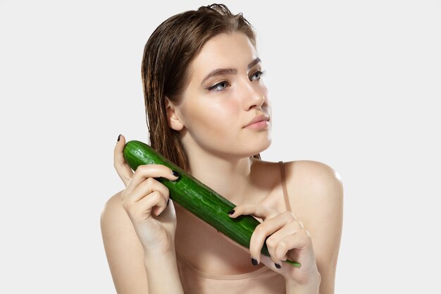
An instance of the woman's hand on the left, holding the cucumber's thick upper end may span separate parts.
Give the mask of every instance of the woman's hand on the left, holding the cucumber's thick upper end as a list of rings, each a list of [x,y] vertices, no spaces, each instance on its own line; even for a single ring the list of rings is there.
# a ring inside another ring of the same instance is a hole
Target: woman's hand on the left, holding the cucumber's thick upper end
[[[169,202],[168,188],[155,178],[177,180],[167,166],[147,164],[138,166],[135,173],[125,161],[125,137],[120,135],[114,152],[114,166],[123,180],[123,207],[144,247],[145,255],[169,255],[175,250],[176,214]]]

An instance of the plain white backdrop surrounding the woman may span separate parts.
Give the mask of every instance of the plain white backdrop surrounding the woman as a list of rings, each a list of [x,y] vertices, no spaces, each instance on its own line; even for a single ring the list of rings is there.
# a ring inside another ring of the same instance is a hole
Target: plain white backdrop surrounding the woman
[[[224,3],[258,33],[263,159],[342,176],[336,293],[439,291],[440,1]],[[0,293],[115,293],[99,216],[118,134],[147,142],[142,50],[206,4],[0,1]]]

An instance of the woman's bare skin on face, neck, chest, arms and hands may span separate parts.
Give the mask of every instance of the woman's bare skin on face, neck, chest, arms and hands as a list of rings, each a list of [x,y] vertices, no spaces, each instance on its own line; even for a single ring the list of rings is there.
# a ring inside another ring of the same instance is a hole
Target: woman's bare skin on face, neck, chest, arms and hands
[[[333,293],[342,184],[325,164],[287,162],[292,213],[286,212],[278,164],[250,158],[271,144],[270,126],[244,128],[257,114],[271,116],[268,93],[259,79],[260,63],[252,64],[256,57],[242,34],[214,37],[190,66],[182,104],[167,102],[169,126],[180,132],[193,176],[237,204],[231,217],[251,214],[262,220],[250,249],[232,243],[173,201],[167,205],[168,190],[153,178],[174,180],[175,176],[164,166],[144,166],[132,173],[122,156],[125,137],[121,136],[115,167],[126,188],[108,200],[101,216],[118,293],[182,293],[175,250],[207,274],[244,274],[269,267],[284,276],[287,293]],[[201,83],[216,68],[237,71]],[[213,86],[215,92],[206,90]],[[271,234],[267,242],[271,257],[265,257],[260,248]],[[251,257],[259,265],[252,265]],[[302,267],[291,267],[282,262],[285,259],[297,260]],[[170,265],[167,289],[161,288],[155,262]]]

